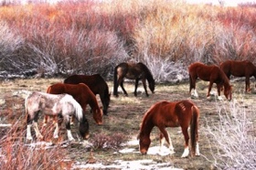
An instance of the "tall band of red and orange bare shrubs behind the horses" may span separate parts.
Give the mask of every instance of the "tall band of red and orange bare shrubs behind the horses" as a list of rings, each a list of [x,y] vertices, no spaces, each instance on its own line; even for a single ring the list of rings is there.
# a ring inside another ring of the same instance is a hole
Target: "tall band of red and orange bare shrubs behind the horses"
[[[0,71],[25,76],[101,73],[143,61],[157,81],[186,77],[194,61],[255,63],[255,7],[182,1],[78,1],[0,6]]]

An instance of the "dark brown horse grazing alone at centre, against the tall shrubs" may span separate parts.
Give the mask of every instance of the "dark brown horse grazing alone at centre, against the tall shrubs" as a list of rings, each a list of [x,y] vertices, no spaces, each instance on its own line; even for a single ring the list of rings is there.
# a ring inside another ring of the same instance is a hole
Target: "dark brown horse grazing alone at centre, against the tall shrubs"
[[[118,86],[120,85],[125,96],[128,96],[126,90],[123,88],[123,79],[127,78],[130,80],[135,80],[135,90],[134,96],[137,96],[137,88],[139,80],[142,80],[144,85],[145,95],[148,96],[146,90],[146,80],[148,81],[149,89],[154,93],[155,90],[155,80],[151,71],[144,65],[144,63],[133,63],[133,62],[123,62],[114,68],[113,74],[113,95],[118,97]]]

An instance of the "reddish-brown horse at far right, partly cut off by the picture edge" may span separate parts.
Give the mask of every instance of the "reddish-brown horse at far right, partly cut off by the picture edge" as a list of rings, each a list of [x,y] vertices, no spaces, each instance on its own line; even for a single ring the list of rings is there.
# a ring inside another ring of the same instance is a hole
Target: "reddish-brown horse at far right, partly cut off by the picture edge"
[[[254,79],[256,79],[256,67],[251,63],[251,61],[227,60],[220,63],[219,67],[224,71],[229,79],[230,75],[235,77],[245,77],[245,91],[251,91],[250,78],[251,76],[254,76]]]

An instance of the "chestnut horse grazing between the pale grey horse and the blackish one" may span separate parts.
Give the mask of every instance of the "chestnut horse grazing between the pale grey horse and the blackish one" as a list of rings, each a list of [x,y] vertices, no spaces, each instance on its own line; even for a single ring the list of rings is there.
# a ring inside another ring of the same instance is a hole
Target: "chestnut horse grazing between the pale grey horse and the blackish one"
[[[83,111],[86,111],[87,104],[90,105],[93,119],[97,124],[102,123],[102,112],[98,105],[98,101],[90,90],[90,88],[84,83],[80,84],[64,84],[64,83],[56,83],[48,87],[47,90],[50,94],[62,94],[67,93],[71,95],[76,101],[80,103]],[[45,123],[48,122],[48,117],[45,117]]]

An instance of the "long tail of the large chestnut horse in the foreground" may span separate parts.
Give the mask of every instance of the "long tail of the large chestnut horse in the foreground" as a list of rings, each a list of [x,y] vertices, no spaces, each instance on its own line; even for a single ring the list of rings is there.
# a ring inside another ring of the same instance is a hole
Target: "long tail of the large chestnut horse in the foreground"
[[[192,112],[192,120],[190,124],[190,143],[191,143],[191,151],[193,154],[196,153],[196,145],[198,139],[198,118],[199,118],[199,110],[197,106],[193,105],[191,107]]]

